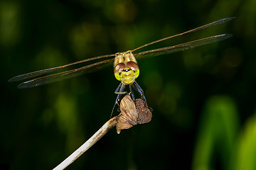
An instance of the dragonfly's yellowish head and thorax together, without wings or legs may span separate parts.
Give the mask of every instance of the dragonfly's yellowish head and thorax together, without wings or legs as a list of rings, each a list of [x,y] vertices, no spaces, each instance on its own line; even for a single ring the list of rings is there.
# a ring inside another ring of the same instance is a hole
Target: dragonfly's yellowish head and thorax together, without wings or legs
[[[123,84],[132,84],[139,77],[139,67],[131,51],[116,54],[114,58],[114,77]]]

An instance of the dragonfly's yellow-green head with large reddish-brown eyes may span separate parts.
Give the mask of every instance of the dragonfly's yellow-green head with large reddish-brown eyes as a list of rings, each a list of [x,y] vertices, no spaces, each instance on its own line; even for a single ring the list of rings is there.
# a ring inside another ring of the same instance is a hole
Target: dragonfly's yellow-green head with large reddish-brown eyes
[[[132,84],[139,77],[139,67],[135,62],[121,62],[114,67],[114,77],[123,84]]]

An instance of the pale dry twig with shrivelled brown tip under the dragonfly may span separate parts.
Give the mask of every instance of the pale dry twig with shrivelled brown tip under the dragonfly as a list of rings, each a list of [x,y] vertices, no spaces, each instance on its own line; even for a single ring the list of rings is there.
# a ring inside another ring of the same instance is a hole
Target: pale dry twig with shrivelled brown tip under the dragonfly
[[[102,138],[111,128],[117,125],[117,133],[119,134],[123,129],[132,128],[137,124],[148,123],[151,120],[152,113],[146,102],[138,98],[132,101],[132,98],[127,94],[122,98],[120,103],[121,113],[105,123],[100,130],[95,132],[89,140],[87,140],[81,147],[79,147],[73,154],[70,154],[63,162],[53,170],[65,169],[68,165],[78,159],[87,149],[92,147],[100,138]]]

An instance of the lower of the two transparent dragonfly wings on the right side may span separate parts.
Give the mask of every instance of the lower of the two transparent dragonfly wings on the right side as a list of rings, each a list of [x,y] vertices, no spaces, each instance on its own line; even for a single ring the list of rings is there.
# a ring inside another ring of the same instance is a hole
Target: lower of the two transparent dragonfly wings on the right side
[[[157,55],[165,55],[165,54],[169,54],[169,53],[173,53],[173,52],[188,50],[188,49],[191,49],[193,47],[198,47],[198,46],[201,46],[201,45],[210,44],[212,42],[225,40],[227,38],[230,38],[231,36],[232,36],[231,34],[214,35],[214,36],[211,36],[211,37],[208,37],[208,38],[202,38],[202,39],[199,39],[199,40],[186,42],[186,43],[183,43],[183,44],[180,44],[180,45],[174,45],[174,46],[170,46],[170,47],[162,47],[162,48],[158,48],[158,49],[154,49],[154,50],[139,52],[137,54],[134,54],[134,56],[136,57],[136,59],[142,59],[144,57],[153,57],[153,56],[157,56]]]

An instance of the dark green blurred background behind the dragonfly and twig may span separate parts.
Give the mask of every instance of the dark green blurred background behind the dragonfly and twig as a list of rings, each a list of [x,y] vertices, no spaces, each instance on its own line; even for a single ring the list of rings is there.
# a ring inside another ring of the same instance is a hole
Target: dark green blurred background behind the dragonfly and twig
[[[139,60],[150,123],[110,130],[67,169],[256,169],[256,1],[0,1],[0,169],[53,169],[109,118],[113,68],[32,89],[18,74],[152,45],[233,37]],[[117,111],[114,115],[117,115]]]

